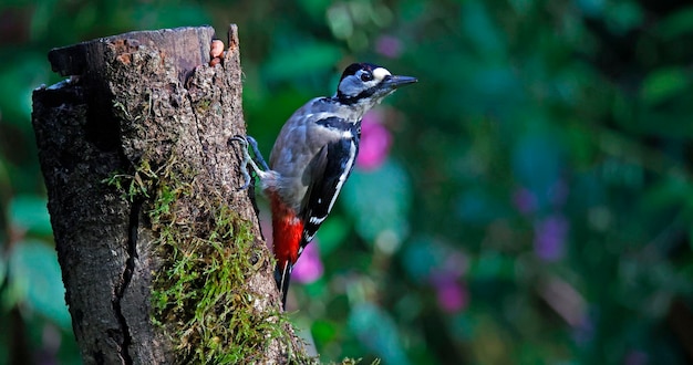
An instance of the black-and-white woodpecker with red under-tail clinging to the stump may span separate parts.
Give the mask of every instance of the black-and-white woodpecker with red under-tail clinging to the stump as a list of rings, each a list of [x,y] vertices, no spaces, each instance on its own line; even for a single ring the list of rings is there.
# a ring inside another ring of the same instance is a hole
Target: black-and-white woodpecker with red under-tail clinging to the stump
[[[361,119],[396,88],[417,82],[415,77],[392,75],[371,63],[353,63],[340,79],[331,97],[316,97],[286,122],[269,166],[251,137],[235,137],[244,144],[241,170],[247,188],[250,165],[259,177],[272,213],[275,280],[286,305],[291,270],[313,239],[351,174],[359,153]],[[261,169],[248,153],[252,147]]]

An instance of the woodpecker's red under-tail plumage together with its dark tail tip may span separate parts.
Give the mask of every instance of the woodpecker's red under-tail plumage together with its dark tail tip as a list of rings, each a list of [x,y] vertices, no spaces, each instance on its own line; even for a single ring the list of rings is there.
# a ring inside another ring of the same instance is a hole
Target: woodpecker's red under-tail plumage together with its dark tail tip
[[[277,192],[270,192],[269,199],[272,209],[272,240],[275,246],[275,281],[281,292],[281,305],[287,304],[287,292],[291,281],[291,270],[299,258],[299,248],[303,234],[303,222],[296,216],[296,211],[285,205]]]

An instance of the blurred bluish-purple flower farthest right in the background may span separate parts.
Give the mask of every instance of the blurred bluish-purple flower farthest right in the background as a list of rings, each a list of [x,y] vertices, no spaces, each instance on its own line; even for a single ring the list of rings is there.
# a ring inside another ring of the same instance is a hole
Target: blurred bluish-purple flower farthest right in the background
[[[535,252],[545,261],[563,257],[569,223],[562,216],[549,216],[535,225]]]

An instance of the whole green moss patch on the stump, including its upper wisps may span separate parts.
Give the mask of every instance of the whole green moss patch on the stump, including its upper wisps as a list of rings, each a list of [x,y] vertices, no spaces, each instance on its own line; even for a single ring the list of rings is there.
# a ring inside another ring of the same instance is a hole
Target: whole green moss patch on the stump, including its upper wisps
[[[154,169],[143,160],[133,174],[105,181],[124,199],[144,201],[155,232],[156,255],[164,261],[154,274],[152,321],[174,343],[176,363],[262,362],[273,340],[291,348],[282,330],[287,319],[254,306],[245,285],[263,255],[254,247],[250,223],[220,198],[195,197],[195,176],[179,161]]]

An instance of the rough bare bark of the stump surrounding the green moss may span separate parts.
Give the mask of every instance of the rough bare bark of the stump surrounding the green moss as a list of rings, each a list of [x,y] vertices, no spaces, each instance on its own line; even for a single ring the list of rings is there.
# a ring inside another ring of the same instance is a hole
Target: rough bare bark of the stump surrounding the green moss
[[[167,225],[193,227],[186,228],[193,231],[188,237],[201,234],[189,222],[209,220],[218,205],[251,222],[258,257],[244,293],[258,312],[279,310],[249,192],[237,191],[241,146],[227,145],[229,137],[245,135],[236,27],[229,29],[223,62],[209,66],[213,38],[209,27],[180,28],[55,49],[49,54],[53,70],[72,77],[34,91],[32,122],[49,211],[86,364],[184,358],[176,353],[182,348],[176,334],[151,320],[153,282],[172,260],[153,221],[157,174],[177,170],[187,177]],[[120,181],[125,187],[114,187],[117,174],[128,177]],[[224,242],[232,249],[232,237]],[[255,361],[283,363],[294,345],[269,341]]]

